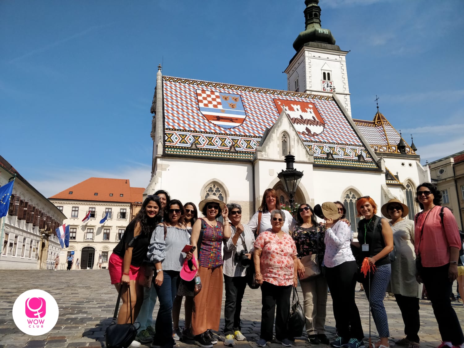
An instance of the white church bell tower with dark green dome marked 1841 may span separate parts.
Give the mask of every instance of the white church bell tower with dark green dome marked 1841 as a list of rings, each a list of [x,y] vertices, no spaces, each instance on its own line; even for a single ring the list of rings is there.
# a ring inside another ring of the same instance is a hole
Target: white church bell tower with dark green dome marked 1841
[[[296,54],[285,69],[287,88],[291,91],[332,95],[335,91],[351,116],[346,55],[335,45],[330,29],[321,26],[319,0],[305,0],[306,30],[293,42]]]

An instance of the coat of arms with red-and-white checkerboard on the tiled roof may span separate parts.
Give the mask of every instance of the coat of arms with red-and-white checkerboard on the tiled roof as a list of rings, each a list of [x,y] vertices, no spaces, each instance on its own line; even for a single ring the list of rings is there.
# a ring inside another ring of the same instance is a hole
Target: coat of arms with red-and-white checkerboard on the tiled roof
[[[234,128],[245,121],[245,110],[238,94],[197,90],[198,106],[206,119],[222,128]]]

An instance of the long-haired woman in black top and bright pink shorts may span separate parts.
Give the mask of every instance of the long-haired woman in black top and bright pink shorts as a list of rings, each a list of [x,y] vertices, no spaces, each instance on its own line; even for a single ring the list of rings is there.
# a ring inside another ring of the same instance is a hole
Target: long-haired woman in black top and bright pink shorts
[[[122,289],[122,307],[118,313],[117,323],[130,322],[129,296],[127,288],[130,286],[130,300],[132,303],[132,318],[135,321],[143,301],[143,288],[136,282],[140,265],[147,256],[148,245],[155,226],[161,220],[161,202],[158,196],[148,196],[135,218],[126,227],[121,240],[113,249],[108,269],[111,284],[119,292]]]

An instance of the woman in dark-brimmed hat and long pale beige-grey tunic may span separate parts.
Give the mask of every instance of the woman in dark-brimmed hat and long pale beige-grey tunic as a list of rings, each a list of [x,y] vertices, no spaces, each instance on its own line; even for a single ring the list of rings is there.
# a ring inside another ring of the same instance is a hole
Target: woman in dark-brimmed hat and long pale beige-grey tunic
[[[414,254],[414,222],[404,219],[408,207],[400,200],[392,199],[380,209],[393,231],[395,262],[392,263],[390,286],[405,324],[406,338],[397,341],[400,346],[420,348],[419,345],[419,296],[420,284],[416,281],[416,255]]]

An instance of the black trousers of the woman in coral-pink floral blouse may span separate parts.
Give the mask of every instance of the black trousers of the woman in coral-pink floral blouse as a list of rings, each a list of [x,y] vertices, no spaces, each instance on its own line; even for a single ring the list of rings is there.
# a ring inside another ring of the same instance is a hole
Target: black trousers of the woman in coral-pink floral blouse
[[[276,315],[276,338],[282,341],[288,337],[287,322],[290,315],[290,294],[292,285],[277,286],[268,282],[261,285],[263,308],[261,309],[261,335],[266,341],[272,341],[272,326]],[[277,305],[277,313],[276,313]]]

